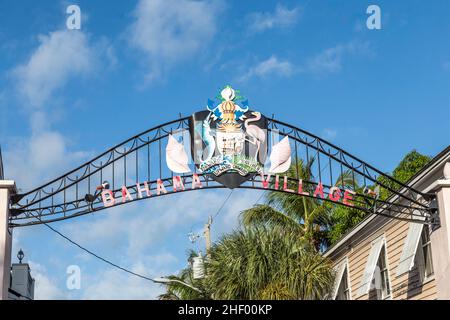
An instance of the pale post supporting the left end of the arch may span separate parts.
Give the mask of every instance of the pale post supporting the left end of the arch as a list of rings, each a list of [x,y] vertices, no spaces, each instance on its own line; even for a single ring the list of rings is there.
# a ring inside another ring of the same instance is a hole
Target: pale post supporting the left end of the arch
[[[16,193],[12,180],[0,180],[0,300],[8,299],[11,273],[12,230],[9,228],[10,199]]]

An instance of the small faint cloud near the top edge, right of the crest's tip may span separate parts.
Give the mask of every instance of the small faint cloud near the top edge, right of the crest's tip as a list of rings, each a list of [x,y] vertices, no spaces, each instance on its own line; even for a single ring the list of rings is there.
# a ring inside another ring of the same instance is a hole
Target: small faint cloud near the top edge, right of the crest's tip
[[[250,33],[263,32],[274,28],[287,28],[295,25],[300,18],[300,8],[288,9],[278,4],[275,12],[253,12],[247,16]]]

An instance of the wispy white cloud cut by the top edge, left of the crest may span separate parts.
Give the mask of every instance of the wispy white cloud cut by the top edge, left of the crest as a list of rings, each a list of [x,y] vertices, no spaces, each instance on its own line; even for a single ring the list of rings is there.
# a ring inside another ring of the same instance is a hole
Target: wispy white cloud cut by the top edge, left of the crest
[[[205,48],[216,33],[218,1],[140,0],[128,30],[132,47],[145,54],[147,79]]]

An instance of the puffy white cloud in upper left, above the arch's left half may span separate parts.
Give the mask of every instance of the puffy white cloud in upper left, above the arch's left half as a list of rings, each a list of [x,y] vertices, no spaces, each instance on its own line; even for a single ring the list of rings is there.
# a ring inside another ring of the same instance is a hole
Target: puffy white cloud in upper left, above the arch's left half
[[[96,52],[80,31],[61,30],[39,36],[39,47],[13,74],[19,92],[34,107],[45,104],[72,76],[94,68]]]

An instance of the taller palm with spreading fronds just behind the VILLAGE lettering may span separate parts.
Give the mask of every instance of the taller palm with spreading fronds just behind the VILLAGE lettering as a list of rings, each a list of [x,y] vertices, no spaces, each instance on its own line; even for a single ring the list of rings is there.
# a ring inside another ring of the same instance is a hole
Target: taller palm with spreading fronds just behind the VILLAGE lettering
[[[306,163],[303,159],[297,159],[286,175],[303,181],[313,181],[313,164],[314,158],[308,159]],[[353,183],[352,175],[350,172],[344,172],[337,182],[340,186],[350,185]],[[295,189],[295,182],[290,184],[289,187]],[[303,189],[310,193],[314,191],[312,184],[305,184]],[[255,205],[241,212],[244,226],[278,226],[294,232],[316,250],[329,244],[326,230],[331,224],[332,205],[320,199],[277,191],[270,191],[266,199],[266,204]]]

